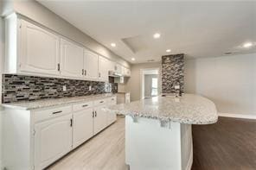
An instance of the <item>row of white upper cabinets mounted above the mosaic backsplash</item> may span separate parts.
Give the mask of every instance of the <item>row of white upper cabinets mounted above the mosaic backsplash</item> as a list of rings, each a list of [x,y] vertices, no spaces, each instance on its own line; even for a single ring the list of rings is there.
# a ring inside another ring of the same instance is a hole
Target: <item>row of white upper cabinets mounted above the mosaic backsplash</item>
[[[122,66],[15,13],[5,18],[4,73],[108,81]]]

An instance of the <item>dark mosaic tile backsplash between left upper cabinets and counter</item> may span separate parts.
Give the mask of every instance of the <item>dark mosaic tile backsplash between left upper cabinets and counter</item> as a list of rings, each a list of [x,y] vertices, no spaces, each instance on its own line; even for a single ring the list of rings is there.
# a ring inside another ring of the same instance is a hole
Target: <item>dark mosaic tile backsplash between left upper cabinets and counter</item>
[[[118,91],[118,84],[76,79],[57,79],[16,74],[3,74],[2,102],[38,100],[42,98],[78,97]],[[66,85],[67,91],[63,91]],[[92,90],[89,91],[89,86]]]

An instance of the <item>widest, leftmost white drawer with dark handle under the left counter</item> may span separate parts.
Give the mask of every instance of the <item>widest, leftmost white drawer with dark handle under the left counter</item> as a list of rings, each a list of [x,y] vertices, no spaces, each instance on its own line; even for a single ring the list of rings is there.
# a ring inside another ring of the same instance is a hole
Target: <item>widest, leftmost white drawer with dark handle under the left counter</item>
[[[53,118],[55,116],[61,116],[61,115],[71,113],[71,111],[72,111],[72,106],[67,105],[67,106],[54,107],[46,110],[35,110],[33,113],[35,114],[35,123],[36,123],[49,118]]]

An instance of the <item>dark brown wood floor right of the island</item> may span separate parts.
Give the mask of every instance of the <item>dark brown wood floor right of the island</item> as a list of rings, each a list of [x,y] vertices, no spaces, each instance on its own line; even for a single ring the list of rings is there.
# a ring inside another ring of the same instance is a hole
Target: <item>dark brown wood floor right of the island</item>
[[[219,117],[212,125],[193,125],[192,170],[255,170],[256,121]]]

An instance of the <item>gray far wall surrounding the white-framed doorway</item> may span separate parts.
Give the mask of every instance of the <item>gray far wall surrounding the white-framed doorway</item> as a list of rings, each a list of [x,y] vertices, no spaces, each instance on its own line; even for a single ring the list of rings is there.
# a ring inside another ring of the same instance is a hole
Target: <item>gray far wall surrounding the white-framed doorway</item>
[[[139,100],[141,95],[141,79],[140,79],[140,71],[145,68],[161,68],[160,62],[154,63],[143,63],[143,64],[135,64],[131,65],[131,78],[128,79],[126,85],[126,91],[131,92],[131,101]],[[160,71],[161,72],[161,71]],[[160,73],[159,72],[159,73]],[[161,78],[161,75],[159,75]],[[160,87],[161,85],[159,85]]]

